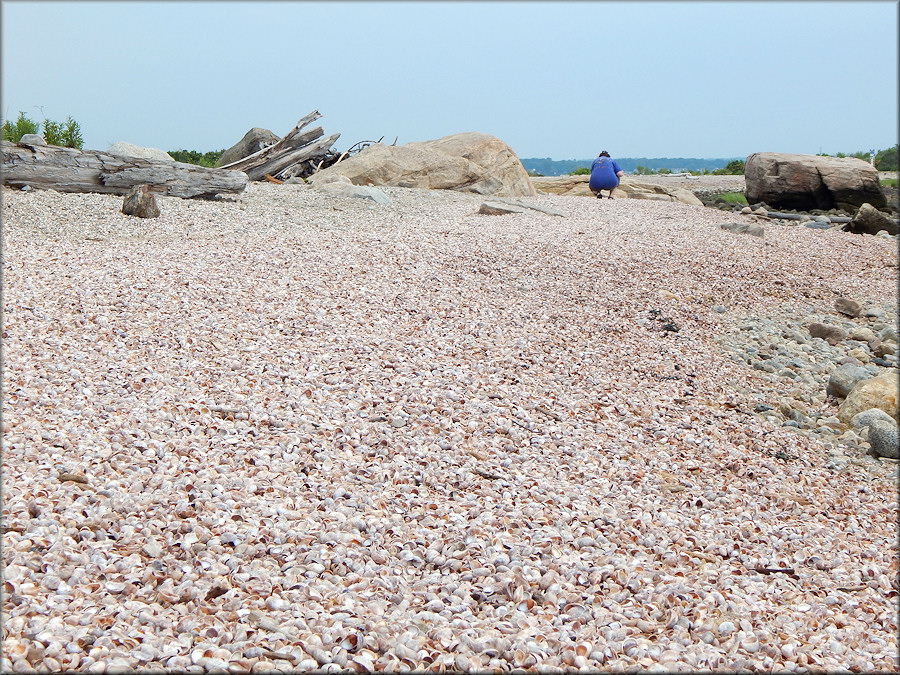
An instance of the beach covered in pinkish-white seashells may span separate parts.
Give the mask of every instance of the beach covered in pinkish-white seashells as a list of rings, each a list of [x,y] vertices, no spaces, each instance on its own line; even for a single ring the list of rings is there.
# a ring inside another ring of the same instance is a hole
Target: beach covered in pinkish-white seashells
[[[898,671],[896,465],[715,341],[895,240],[383,190],[3,188],[3,672]]]

